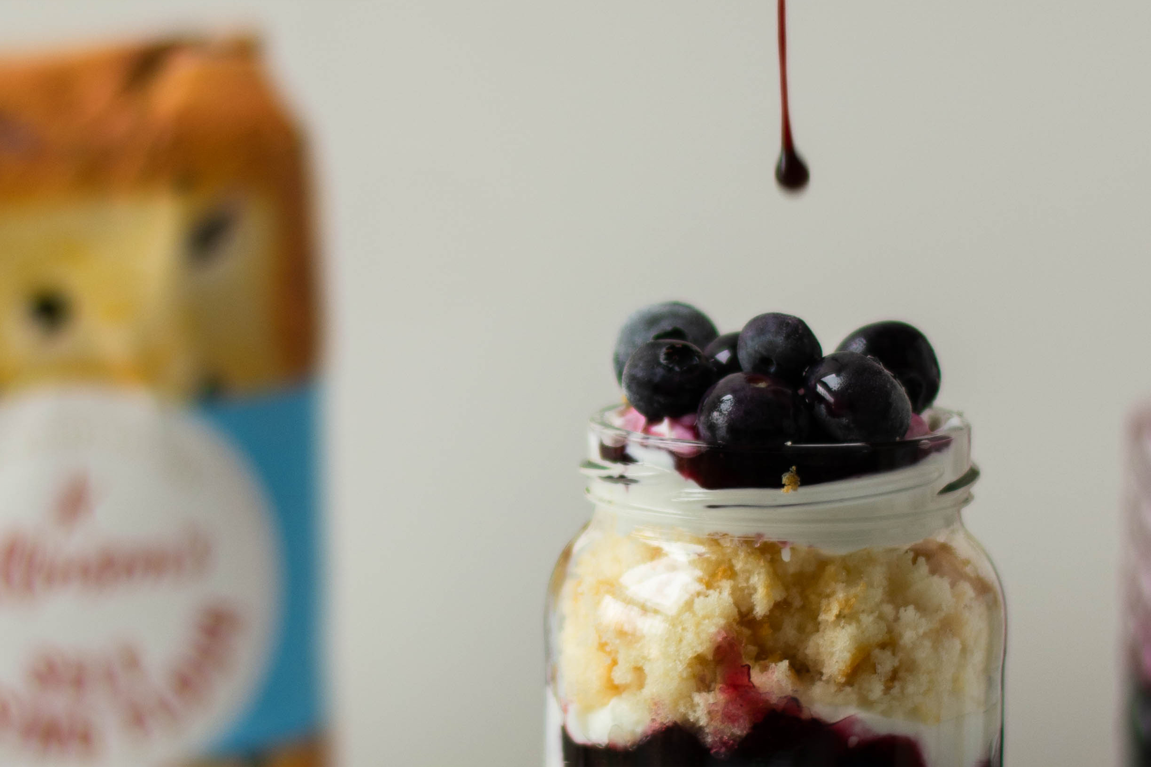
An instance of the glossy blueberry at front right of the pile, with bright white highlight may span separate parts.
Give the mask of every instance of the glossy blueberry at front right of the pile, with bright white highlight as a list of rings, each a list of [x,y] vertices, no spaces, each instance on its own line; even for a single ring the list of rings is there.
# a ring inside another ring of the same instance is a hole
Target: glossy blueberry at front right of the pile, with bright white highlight
[[[839,442],[892,442],[912,423],[895,376],[856,352],[828,354],[807,371],[803,389],[815,422]]]

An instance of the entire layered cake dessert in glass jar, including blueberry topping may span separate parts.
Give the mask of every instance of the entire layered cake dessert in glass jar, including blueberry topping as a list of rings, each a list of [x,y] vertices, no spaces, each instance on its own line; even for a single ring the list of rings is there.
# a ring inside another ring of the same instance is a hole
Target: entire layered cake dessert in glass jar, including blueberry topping
[[[549,588],[548,767],[1001,765],[1004,603],[918,330],[633,314]]]

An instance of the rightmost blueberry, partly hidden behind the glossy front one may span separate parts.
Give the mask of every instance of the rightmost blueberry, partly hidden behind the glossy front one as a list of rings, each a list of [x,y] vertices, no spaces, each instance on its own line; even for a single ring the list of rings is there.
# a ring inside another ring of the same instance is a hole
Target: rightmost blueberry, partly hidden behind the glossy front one
[[[922,413],[939,393],[939,360],[917,328],[906,322],[863,325],[839,345],[838,352],[859,352],[879,360],[904,384],[912,409]]]

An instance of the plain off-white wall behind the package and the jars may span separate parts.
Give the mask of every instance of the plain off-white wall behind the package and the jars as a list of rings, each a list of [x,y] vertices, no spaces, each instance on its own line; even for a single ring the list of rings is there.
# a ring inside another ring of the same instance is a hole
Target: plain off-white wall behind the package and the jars
[[[238,10],[237,10],[238,9]],[[330,299],[343,762],[539,764],[541,604],[634,307],[833,346],[901,317],[975,424],[1007,762],[1115,751],[1121,424],[1151,396],[1151,5],[3,2],[29,47],[251,21],[306,116]]]

